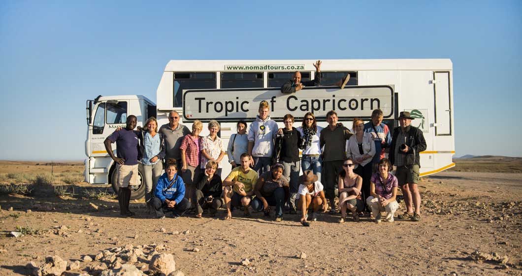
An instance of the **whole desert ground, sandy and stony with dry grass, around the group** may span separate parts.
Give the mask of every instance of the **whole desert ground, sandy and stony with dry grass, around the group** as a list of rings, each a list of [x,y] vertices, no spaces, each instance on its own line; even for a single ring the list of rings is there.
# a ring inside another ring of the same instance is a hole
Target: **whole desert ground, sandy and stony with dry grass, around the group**
[[[339,224],[326,213],[311,227],[288,214],[277,223],[235,211],[223,221],[224,210],[158,220],[143,199],[131,204],[135,217],[122,218],[110,187],[81,182],[81,163],[3,161],[0,275],[29,275],[46,256],[67,261],[63,275],[128,263],[153,274],[158,253],[172,254],[185,275],[522,275],[521,160],[455,160],[422,178],[421,222]]]

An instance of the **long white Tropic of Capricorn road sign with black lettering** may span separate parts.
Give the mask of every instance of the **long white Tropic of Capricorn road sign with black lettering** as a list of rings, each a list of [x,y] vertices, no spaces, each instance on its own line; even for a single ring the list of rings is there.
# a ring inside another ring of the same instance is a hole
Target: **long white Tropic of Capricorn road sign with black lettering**
[[[305,87],[296,93],[283,94],[279,88],[198,89],[184,91],[185,120],[253,121],[259,102],[266,100],[270,117],[282,120],[285,114],[302,118],[306,112],[326,117],[335,110],[341,119],[371,117],[381,109],[384,118],[393,116],[393,86]]]

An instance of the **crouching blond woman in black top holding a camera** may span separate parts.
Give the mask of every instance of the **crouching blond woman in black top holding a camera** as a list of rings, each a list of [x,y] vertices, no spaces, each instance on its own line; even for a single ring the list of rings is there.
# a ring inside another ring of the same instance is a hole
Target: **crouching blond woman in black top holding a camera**
[[[222,182],[221,177],[216,174],[218,163],[207,162],[205,174],[200,174],[195,181],[196,191],[193,202],[196,205],[196,217],[201,218],[204,209],[209,209],[210,216],[216,216],[218,209],[223,202],[221,201]]]

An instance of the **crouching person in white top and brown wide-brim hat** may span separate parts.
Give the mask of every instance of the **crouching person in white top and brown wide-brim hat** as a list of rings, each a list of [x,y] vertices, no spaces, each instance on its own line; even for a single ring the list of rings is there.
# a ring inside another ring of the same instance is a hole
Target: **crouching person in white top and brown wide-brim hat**
[[[298,189],[298,208],[301,209],[303,215],[301,223],[305,225],[308,218],[308,209],[312,205],[311,220],[315,221],[315,212],[319,211],[319,207],[323,206],[323,213],[328,210],[328,203],[323,191],[324,187],[321,181],[317,181],[317,176],[311,170],[305,170],[303,175],[299,177]]]

